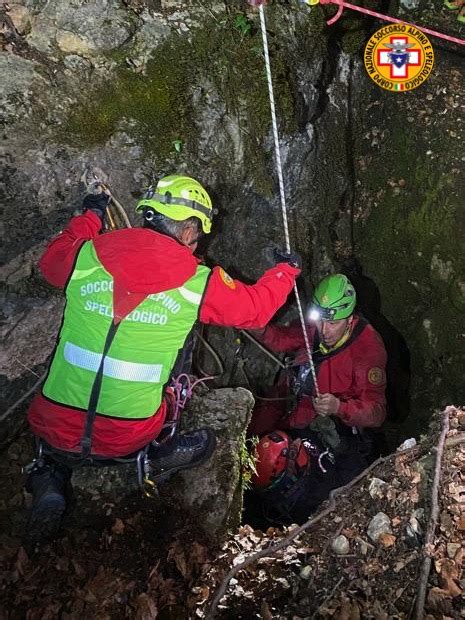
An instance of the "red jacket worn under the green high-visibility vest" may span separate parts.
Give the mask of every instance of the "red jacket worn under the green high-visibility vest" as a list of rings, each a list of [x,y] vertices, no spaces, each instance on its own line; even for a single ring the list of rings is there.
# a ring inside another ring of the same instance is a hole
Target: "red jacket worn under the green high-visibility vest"
[[[198,259],[171,237],[144,228],[100,235],[101,222],[87,211],[74,217],[48,245],[39,267],[45,279],[64,288],[84,241],[93,239],[97,255],[114,278],[114,315],[121,320],[149,294],[181,286],[194,275]],[[211,273],[200,307],[202,323],[258,328],[285,302],[299,270],[286,263],[269,269],[253,285],[232,280],[220,267]],[[84,317],[83,317],[84,321]],[[118,420],[97,415],[92,452],[123,456],[155,439],[166,415],[163,402],[145,420]],[[57,405],[38,394],[28,414],[32,431],[57,449],[79,452],[86,412]]]

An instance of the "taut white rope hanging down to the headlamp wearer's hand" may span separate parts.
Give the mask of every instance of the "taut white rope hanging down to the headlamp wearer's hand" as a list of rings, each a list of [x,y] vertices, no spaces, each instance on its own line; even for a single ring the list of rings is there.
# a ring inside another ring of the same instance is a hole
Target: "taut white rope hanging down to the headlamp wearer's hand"
[[[263,40],[263,53],[265,57],[265,66],[266,66],[266,77],[268,81],[268,94],[270,96],[270,109],[271,109],[271,121],[273,124],[273,136],[274,136],[274,150],[276,157],[276,169],[278,172],[278,180],[279,180],[279,193],[281,196],[281,209],[283,212],[283,224],[284,224],[284,238],[286,240],[286,251],[291,251],[291,244],[289,240],[289,225],[287,222],[287,209],[286,209],[286,196],[284,193],[284,180],[283,180],[283,169],[281,165],[281,152],[279,148],[279,136],[278,136],[278,123],[276,120],[276,107],[274,103],[274,92],[273,92],[273,80],[271,77],[271,64],[270,64],[270,55],[268,52],[268,37],[266,34],[266,23],[265,23],[265,9],[263,4],[259,7],[260,11],[260,26],[262,30],[262,40]],[[320,396],[320,390],[318,389],[318,382],[316,379],[315,365],[313,363],[312,351],[310,349],[310,342],[308,340],[307,328],[305,325],[304,313],[302,310],[302,303],[299,297],[299,291],[297,289],[297,284],[294,282],[294,293],[297,301],[297,308],[299,311],[300,323],[302,325],[302,332],[305,340],[305,348],[307,351],[308,361],[310,364],[310,371],[313,377],[313,384],[315,386],[315,392],[317,397]]]

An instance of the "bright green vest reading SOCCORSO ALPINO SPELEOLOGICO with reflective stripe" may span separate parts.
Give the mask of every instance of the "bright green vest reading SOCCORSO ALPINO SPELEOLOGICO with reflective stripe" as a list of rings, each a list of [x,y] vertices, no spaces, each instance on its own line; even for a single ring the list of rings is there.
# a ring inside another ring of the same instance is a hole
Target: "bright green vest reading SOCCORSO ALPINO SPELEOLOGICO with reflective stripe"
[[[43,394],[87,411],[91,392],[96,397],[97,390],[98,414],[132,419],[153,415],[198,318],[209,274],[210,269],[200,265],[179,288],[148,295],[115,331],[113,277],[92,241],[85,242],[66,288],[63,326]],[[99,368],[100,386],[95,380]]]

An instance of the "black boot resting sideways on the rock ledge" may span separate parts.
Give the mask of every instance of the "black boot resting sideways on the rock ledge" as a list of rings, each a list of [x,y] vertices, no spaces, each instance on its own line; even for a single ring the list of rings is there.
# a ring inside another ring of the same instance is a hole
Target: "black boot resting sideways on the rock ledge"
[[[150,455],[151,473],[164,479],[181,469],[197,467],[210,458],[215,446],[215,435],[208,428],[178,435],[169,445],[157,448]]]

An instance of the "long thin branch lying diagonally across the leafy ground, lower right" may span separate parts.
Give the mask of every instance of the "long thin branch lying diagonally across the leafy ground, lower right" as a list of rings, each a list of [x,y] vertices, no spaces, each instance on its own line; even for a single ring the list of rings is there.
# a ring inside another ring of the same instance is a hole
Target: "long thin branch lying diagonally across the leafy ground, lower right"
[[[402,452],[402,454],[408,454],[408,453],[414,452],[416,450],[418,450],[418,446],[414,446],[413,448],[410,448],[409,450],[404,450]],[[254,562],[259,560],[260,558],[263,558],[263,557],[266,557],[266,556],[270,556],[270,555],[274,555],[280,549],[283,549],[284,547],[287,547],[294,538],[299,536],[299,534],[302,534],[302,532],[305,532],[306,530],[308,530],[312,525],[316,525],[324,517],[326,517],[328,514],[330,514],[336,508],[336,498],[339,495],[342,495],[343,493],[348,491],[350,488],[355,486],[358,482],[360,482],[360,480],[363,480],[363,478],[365,478],[365,476],[367,476],[375,467],[377,467],[378,465],[381,465],[382,463],[385,463],[391,457],[392,457],[392,455],[380,457],[379,459],[374,461],[369,467],[364,469],[358,476],[356,476],[348,484],[346,484],[343,487],[338,487],[337,489],[333,489],[331,491],[331,493],[329,494],[329,498],[328,498],[329,505],[324,510],[319,512],[316,515],[316,517],[313,517],[312,519],[309,519],[308,521],[306,521],[303,525],[300,525],[299,527],[296,527],[295,530],[293,530],[289,534],[289,536],[287,536],[286,538],[281,540],[279,543],[277,543],[276,545],[270,545],[266,549],[262,549],[261,551],[258,551],[257,553],[254,553],[253,555],[249,556],[247,559],[245,559],[240,564],[236,564],[236,566],[234,566],[229,571],[229,573],[226,575],[226,577],[223,579],[220,587],[216,591],[216,594],[215,594],[215,597],[214,597],[213,602],[211,604],[211,607],[210,607],[209,611],[207,612],[207,614],[205,616],[206,620],[213,620],[213,618],[215,617],[216,608],[218,607],[218,603],[223,598],[224,593],[226,592],[226,588],[228,587],[229,582],[231,581],[231,579],[239,571],[244,569],[246,566],[249,566],[250,564],[253,564]]]

